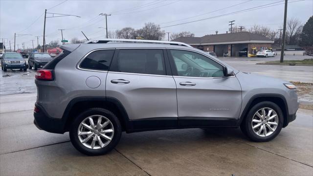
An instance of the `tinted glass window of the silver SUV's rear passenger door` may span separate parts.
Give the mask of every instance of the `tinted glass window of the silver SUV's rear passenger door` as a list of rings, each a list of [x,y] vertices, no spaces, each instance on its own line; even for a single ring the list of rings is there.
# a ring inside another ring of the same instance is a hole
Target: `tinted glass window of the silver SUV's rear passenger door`
[[[116,66],[119,72],[165,75],[161,49],[121,49]]]

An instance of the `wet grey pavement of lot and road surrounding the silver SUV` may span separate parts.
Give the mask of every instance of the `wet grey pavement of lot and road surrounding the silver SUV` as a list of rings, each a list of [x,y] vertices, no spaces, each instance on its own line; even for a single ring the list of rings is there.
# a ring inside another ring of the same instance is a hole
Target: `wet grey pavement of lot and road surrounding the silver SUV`
[[[242,71],[313,82],[313,66],[268,67],[255,65],[262,60],[244,59],[222,60]],[[68,133],[48,133],[33,125],[34,74],[0,71],[1,176],[313,175],[312,110],[299,109],[296,120],[270,142],[250,142],[240,129],[123,133],[111,153],[86,156],[74,149]]]

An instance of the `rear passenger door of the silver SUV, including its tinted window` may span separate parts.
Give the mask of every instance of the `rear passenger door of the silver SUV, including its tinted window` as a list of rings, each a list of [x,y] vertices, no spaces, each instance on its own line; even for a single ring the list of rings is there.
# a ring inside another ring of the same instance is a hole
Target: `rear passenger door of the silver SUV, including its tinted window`
[[[107,98],[123,105],[135,129],[177,126],[176,84],[165,52],[132,48],[116,49],[114,54],[106,81]]]

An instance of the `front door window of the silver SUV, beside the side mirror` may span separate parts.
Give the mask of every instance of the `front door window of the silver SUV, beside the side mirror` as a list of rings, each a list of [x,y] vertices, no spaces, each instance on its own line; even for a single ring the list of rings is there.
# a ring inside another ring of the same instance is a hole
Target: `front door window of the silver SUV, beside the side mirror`
[[[221,77],[224,67],[201,54],[185,51],[170,50],[174,59],[178,76],[188,77]]]

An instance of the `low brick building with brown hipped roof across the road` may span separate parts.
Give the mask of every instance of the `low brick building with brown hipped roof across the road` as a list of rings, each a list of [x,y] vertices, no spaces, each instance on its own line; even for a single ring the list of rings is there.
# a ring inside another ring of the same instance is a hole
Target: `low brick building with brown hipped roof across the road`
[[[273,40],[250,32],[235,32],[226,34],[212,34],[203,37],[179,37],[173,41],[183,42],[207,52],[215,52],[217,56],[239,56],[239,51],[247,49],[248,54],[253,51],[270,49]],[[247,56],[248,56],[247,54]]]

